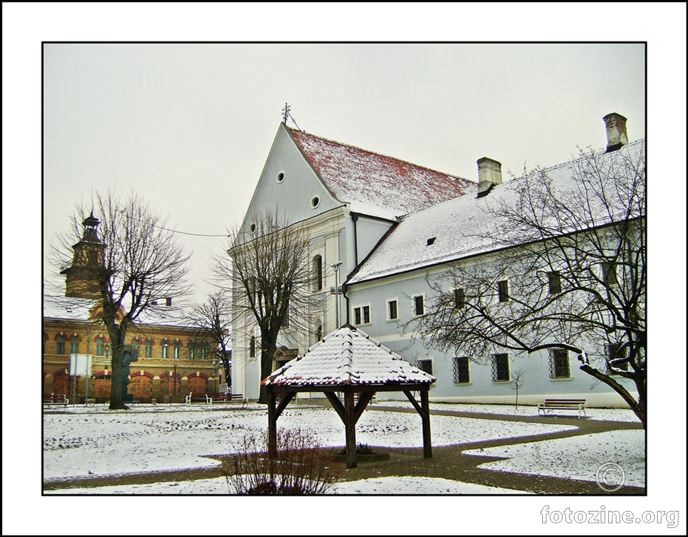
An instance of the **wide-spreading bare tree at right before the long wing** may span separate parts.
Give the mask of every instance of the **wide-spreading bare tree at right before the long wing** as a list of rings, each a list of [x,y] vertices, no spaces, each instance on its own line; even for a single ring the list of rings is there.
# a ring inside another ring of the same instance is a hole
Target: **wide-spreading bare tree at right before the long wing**
[[[486,198],[483,261],[428,278],[436,294],[416,329],[440,349],[486,361],[497,348],[573,351],[645,425],[645,149],[588,149],[561,169],[524,170]],[[557,175],[559,174],[559,175]],[[634,382],[637,399],[617,380]]]

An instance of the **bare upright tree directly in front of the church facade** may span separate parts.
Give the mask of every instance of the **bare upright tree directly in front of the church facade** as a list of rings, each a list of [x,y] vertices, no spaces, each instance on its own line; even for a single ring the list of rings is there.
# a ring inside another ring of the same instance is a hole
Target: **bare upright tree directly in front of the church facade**
[[[230,260],[216,258],[215,273],[232,285],[235,326],[260,330],[261,379],[272,373],[278,338],[292,341],[308,330],[309,299],[314,274],[310,266],[308,234],[290,225],[277,210],[257,215],[243,231],[230,237]],[[267,402],[261,385],[259,402]]]

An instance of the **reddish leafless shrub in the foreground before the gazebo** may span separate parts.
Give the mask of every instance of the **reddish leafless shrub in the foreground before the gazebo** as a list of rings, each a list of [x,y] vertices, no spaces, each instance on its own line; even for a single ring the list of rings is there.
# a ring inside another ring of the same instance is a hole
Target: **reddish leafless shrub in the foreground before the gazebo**
[[[244,436],[233,457],[233,472],[225,471],[237,494],[326,494],[341,470],[317,439],[297,430],[277,433],[277,457],[268,458],[268,435]]]

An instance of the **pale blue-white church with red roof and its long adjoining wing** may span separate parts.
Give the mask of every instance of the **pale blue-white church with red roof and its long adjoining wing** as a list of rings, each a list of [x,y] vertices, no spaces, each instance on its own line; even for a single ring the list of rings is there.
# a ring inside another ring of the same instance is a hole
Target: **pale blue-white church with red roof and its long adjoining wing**
[[[614,114],[613,119],[607,121],[608,146],[616,144],[616,151],[605,158],[644,153],[644,140],[627,142],[625,118]],[[588,399],[589,406],[625,406],[612,388],[579,370],[574,353],[557,355],[556,367],[548,350],[497,351],[491,364],[478,363],[414,337],[409,321],[422,316],[433,300],[433,276],[465,259],[488,264],[498,249],[475,238],[486,225],[482,207],[508,199],[519,179],[503,181],[496,160],[481,158],[477,167],[474,179],[455,177],[281,123],[240,232],[249,230],[261,212],[277,208],[308,233],[309,262],[318,277],[308,331],[284,340],[273,371],[349,324],[436,377],[431,401],[513,404],[518,370],[526,372],[519,404],[575,397]],[[573,182],[570,163],[547,169],[555,181]],[[256,337],[250,320],[233,322],[233,390],[249,399],[257,399],[261,381],[259,353],[250,344]],[[632,382],[616,380],[633,393]]]

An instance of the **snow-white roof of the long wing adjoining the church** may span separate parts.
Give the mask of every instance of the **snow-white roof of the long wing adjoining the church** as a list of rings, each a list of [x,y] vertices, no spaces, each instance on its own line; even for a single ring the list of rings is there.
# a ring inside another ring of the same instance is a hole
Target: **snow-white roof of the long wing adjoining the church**
[[[604,155],[605,159],[622,159],[625,156],[639,155],[645,148],[645,141],[627,144],[619,151]],[[552,179],[552,188],[562,193],[576,193],[580,184],[572,178],[571,161],[552,168],[546,168],[547,176]],[[443,204],[407,215],[396,225],[387,238],[372,252],[347,285],[361,283],[391,274],[409,272],[424,267],[464,259],[477,254],[493,252],[502,248],[490,235],[495,234],[499,222],[495,221],[488,208],[499,204],[512,205],[518,201],[519,189],[523,178],[496,185],[485,197],[477,198],[474,193],[451,199]],[[591,227],[610,222],[608,207],[591,208],[599,218]],[[619,208],[625,215],[627,208]],[[501,227],[499,228],[502,229]],[[522,230],[511,228],[512,237],[504,237],[504,243],[530,240]],[[429,239],[433,239],[429,241]]]

